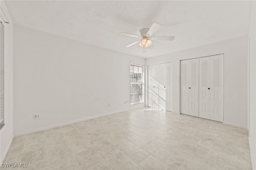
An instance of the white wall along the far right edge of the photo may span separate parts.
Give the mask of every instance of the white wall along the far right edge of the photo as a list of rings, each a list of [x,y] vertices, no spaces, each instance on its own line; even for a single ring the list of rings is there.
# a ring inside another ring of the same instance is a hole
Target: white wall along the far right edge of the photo
[[[255,1],[252,4],[252,15],[250,20],[250,28],[249,28],[249,60],[248,66],[250,68],[250,86],[248,95],[250,97],[249,103],[249,142],[250,142],[250,150],[251,150],[251,158],[252,158],[252,166],[256,169],[256,14],[255,14],[256,3]]]

